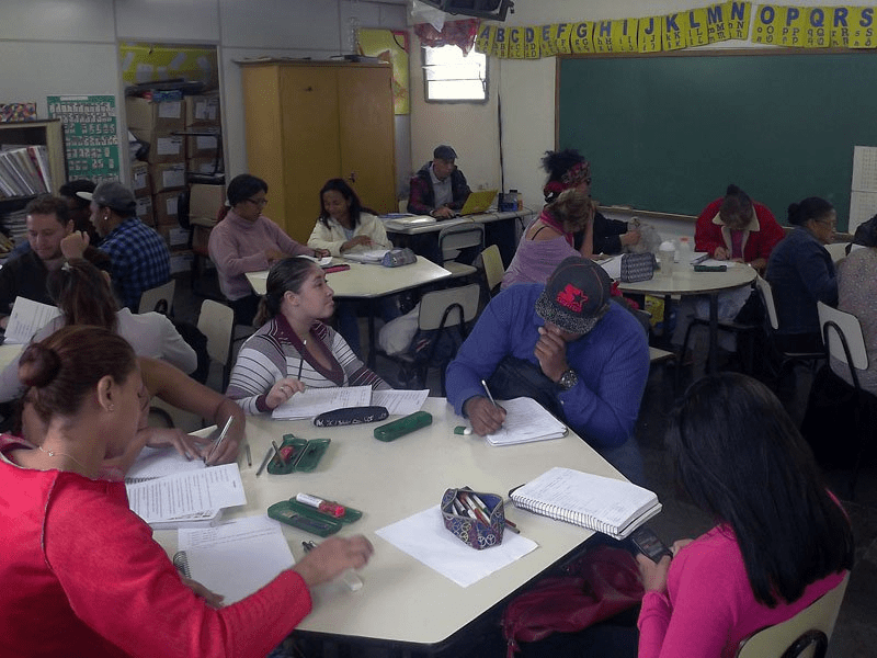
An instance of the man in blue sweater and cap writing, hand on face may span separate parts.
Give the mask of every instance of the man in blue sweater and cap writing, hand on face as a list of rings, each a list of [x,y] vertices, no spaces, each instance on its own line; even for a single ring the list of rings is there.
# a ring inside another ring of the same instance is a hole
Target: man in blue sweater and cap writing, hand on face
[[[488,399],[537,399],[629,479],[642,483],[633,439],[649,374],[641,325],[610,302],[612,282],[593,261],[570,257],[545,285],[520,284],[485,309],[447,366],[447,399],[477,434],[505,411]]]

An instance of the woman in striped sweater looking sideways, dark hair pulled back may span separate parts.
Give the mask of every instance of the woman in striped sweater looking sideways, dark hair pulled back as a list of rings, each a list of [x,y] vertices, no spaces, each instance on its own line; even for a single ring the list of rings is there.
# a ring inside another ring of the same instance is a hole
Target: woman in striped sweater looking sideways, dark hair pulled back
[[[334,311],[326,274],[306,258],[271,268],[257,324],[240,349],[226,395],[247,413],[265,413],[307,387],[390,386],[324,324]],[[265,321],[267,320],[267,321]]]

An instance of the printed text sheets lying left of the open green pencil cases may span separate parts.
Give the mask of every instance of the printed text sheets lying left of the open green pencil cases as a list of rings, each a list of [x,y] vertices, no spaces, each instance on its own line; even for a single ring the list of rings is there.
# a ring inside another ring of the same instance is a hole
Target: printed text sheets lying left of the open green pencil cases
[[[126,484],[128,504],[155,529],[210,525],[224,508],[247,503],[237,464]]]

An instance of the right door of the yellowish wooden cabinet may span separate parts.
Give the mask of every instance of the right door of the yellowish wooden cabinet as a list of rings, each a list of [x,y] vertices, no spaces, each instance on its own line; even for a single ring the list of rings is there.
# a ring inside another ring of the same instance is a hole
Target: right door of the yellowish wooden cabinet
[[[341,178],[364,206],[398,212],[390,67],[339,68],[338,94]]]

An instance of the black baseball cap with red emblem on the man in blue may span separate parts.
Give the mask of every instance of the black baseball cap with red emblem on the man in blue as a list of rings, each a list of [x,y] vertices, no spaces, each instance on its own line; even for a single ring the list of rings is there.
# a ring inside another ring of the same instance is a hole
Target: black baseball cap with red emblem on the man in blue
[[[570,333],[588,333],[610,309],[612,281],[588,258],[571,256],[548,277],[536,315]]]

